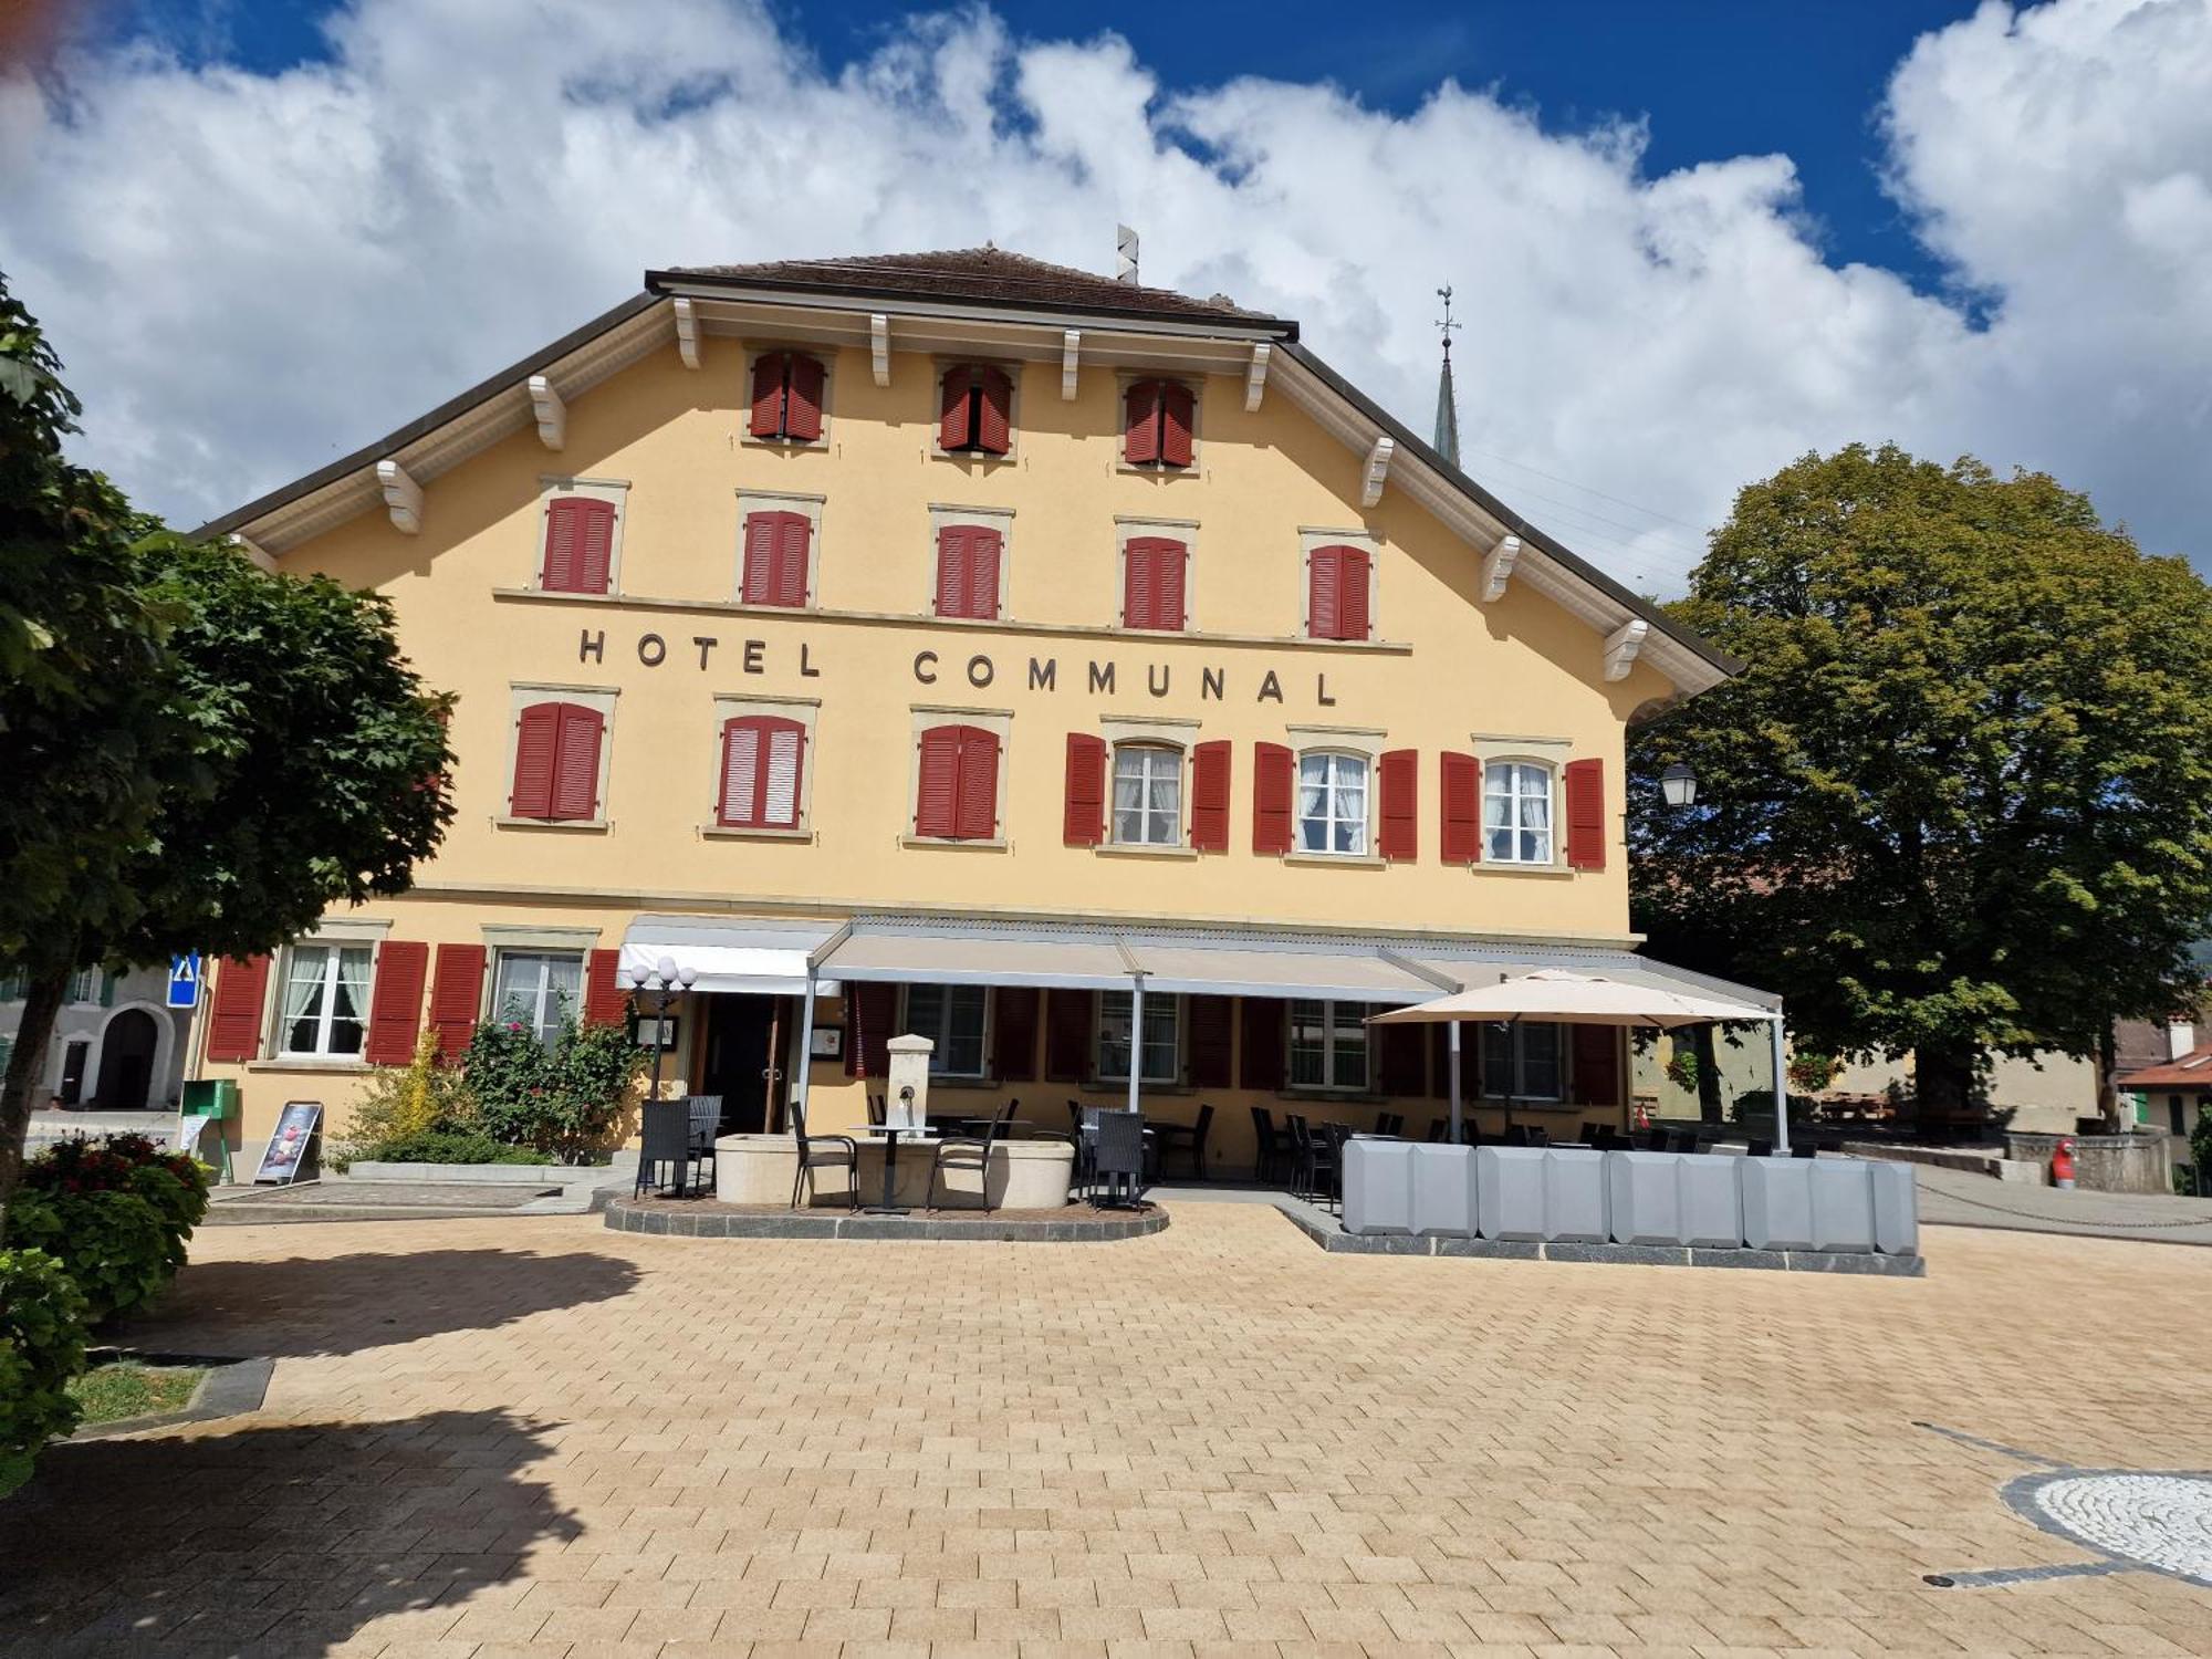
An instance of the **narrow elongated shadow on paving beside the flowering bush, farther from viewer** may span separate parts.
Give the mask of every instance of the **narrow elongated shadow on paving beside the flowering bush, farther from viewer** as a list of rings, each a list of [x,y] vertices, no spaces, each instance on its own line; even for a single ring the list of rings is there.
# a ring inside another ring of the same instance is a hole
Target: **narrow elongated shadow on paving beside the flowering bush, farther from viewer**
[[[445,1332],[480,1332],[555,1307],[613,1301],[637,1267],[591,1252],[414,1250],[208,1261],[144,1314],[104,1329],[146,1352],[305,1358]]]

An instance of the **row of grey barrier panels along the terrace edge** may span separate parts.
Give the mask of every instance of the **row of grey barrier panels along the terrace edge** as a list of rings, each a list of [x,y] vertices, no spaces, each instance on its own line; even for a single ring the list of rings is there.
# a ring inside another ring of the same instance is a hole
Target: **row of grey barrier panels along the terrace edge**
[[[1349,1234],[1913,1256],[1913,1170],[1851,1157],[1345,1146]]]

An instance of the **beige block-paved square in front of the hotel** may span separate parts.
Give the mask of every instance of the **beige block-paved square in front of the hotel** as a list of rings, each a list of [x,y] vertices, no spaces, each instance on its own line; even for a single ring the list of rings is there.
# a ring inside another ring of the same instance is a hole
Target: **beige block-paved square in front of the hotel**
[[[2212,1252],[1940,1228],[1929,1279],[597,1219],[223,1228],[148,1349],[252,1418],[53,1449],[0,1652],[2201,1655],[2022,1464],[2203,1462]]]

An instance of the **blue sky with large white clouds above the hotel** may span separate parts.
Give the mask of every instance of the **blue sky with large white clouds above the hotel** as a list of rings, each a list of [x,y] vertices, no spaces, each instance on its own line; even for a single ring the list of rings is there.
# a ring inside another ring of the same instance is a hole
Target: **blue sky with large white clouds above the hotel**
[[[2212,568],[2212,0],[111,0],[0,69],[80,458],[199,522],[648,265],[1004,248],[1225,292],[1679,593],[1893,438]]]

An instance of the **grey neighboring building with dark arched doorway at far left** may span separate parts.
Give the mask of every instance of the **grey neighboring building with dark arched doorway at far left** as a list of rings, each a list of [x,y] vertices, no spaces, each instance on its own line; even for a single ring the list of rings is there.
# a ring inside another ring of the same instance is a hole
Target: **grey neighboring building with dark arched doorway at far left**
[[[164,1006],[168,969],[80,969],[53,1022],[35,1106],[177,1110],[192,1015]],[[22,980],[0,980],[0,1066],[22,1024]]]

